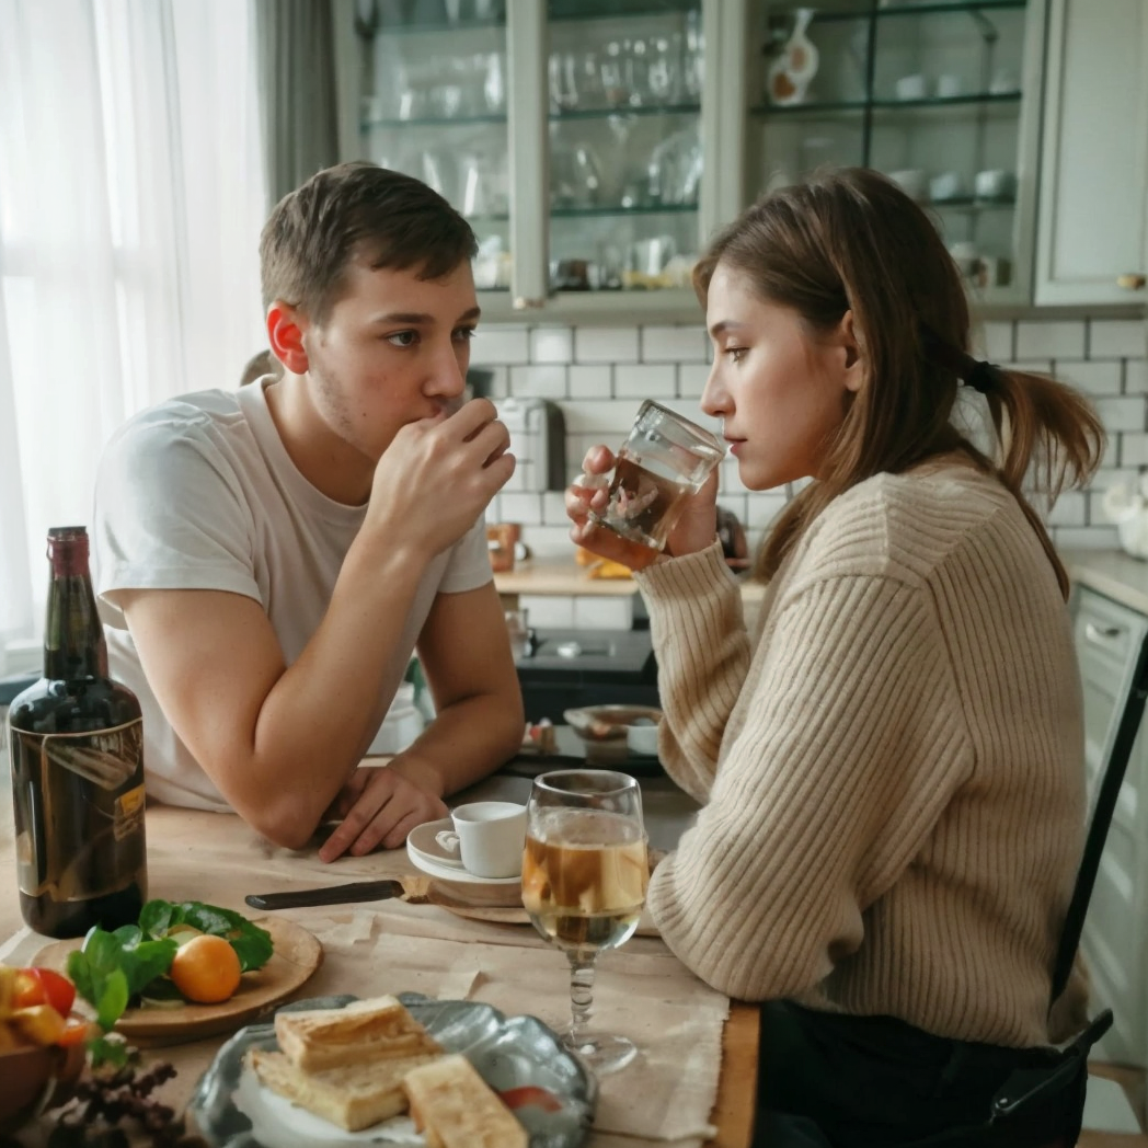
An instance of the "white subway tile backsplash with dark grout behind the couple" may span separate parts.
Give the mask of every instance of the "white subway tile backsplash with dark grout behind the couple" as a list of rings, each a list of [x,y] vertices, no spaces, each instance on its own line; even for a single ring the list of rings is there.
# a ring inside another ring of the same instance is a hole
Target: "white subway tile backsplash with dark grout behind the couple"
[[[995,320],[978,331],[976,346],[978,354],[994,363],[1050,372],[1095,403],[1109,434],[1103,466],[1087,491],[1063,495],[1047,521],[1057,545],[1117,546],[1102,496],[1114,483],[1134,483],[1148,470],[1148,323]],[[698,408],[709,357],[699,319],[690,325],[644,327],[490,324],[474,340],[472,362],[494,370],[495,397],[543,397],[561,406],[573,479],[590,447],[621,442],[643,398],[656,398],[714,427],[714,420]],[[751,548],[793,492],[746,491],[738,481],[736,461],[722,464],[721,505],[745,525]],[[521,523],[522,541],[536,554],[573,554],[560,494],[499,495],[487,517]]]

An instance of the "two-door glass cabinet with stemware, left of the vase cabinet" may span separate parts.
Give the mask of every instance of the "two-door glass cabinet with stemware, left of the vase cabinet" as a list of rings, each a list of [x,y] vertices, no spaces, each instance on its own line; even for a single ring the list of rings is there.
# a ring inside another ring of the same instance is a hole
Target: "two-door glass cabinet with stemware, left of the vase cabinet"
[[[484,316],[697,318],[690,270],[720,222],[703,150],[716,0],[335,0],[335,14],[340,154],[424,179],[471,220]]]

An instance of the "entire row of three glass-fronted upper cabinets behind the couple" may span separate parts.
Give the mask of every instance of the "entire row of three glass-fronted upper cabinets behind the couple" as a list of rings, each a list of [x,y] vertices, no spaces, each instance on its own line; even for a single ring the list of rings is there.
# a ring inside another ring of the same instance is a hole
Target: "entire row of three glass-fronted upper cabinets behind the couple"
[[[708,238],[821,163],[894,173],[976,297],[1025,303],[1045,7],[335,0],[340,153],[471,219],[487,317],[696,320]],[[810,73],[788,91],[798,22]]]

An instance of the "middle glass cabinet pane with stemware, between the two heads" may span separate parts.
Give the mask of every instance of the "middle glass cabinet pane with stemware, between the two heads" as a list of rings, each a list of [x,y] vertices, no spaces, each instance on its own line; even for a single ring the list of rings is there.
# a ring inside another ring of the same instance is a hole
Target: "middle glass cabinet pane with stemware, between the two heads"
[[[548,0],[549,290],[690,286],[701,0]]]

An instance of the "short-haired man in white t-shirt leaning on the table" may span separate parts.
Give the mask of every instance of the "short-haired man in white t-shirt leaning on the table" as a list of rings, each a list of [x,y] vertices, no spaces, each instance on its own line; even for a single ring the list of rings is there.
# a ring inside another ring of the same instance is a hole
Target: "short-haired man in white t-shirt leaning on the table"
[[[149,797],[293,848],[341,819],[329,861],[401,845],[520,744],[482,520],[514,458],[490,402],[460,405],[474,253],[418,180],[319,172],[259,245],[281,374],[162,403],[109,443],[98,591]],[[364,766],[413,650],[437,716]]]

